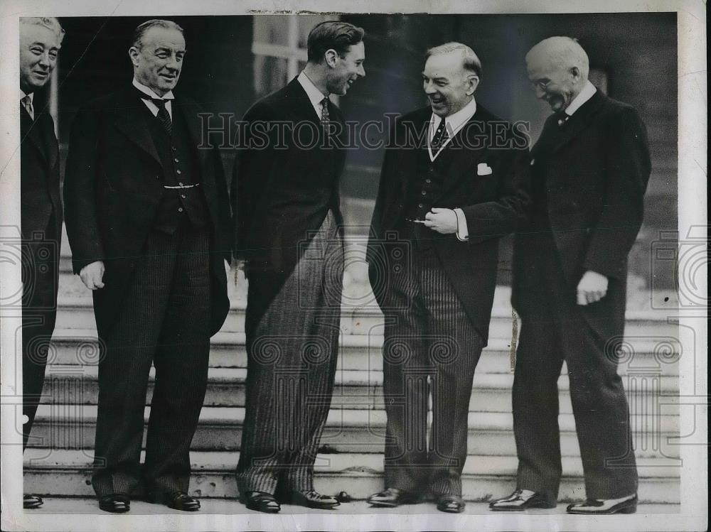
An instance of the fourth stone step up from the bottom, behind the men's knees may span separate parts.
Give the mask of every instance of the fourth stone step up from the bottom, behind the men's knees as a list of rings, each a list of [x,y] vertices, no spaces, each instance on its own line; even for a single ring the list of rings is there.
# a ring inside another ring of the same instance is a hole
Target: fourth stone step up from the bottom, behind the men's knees
[[[382,371],[383,337],[380,335],[341,334],[338,349],[341,369],[371,369]],[[678,376],[682,352],[678,340],[634,337],[626,340],[628,347],[618,358],[619,374],[630,376]],[[57,328],[48,363],[56,365],[96,364],[99,359],[97,333],[93,328]],[[245,333],[221,331],[213,336],[210,349],[213,367],[247,367]],[[476,373],[506,373],[511,371],[510,347],[507,340],[492,338],[484,349]],[[563,372],[567,371],[564,369]]]

